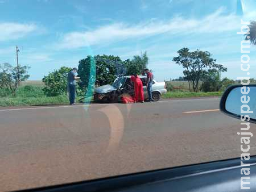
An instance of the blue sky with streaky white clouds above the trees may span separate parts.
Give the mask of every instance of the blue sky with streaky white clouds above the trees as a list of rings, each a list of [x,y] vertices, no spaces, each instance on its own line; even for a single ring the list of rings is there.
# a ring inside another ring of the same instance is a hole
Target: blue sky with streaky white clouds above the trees
[[[60,66],[77,66],[87,55],[131,59],[147,51],[156,80],[183,76],[172,62],[180,48],[209,51],[228,67],[222,77],[246,76],[240,69],[240,19],[256,16],[256,1],[236,0],[0,0],[0,63],[31,66],[41,80]],[[250,47],[256,77],[256,47]]]

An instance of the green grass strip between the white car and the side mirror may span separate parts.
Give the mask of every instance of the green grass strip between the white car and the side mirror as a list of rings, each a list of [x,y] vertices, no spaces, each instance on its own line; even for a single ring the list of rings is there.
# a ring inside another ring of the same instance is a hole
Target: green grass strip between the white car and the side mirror
[[[222,91],[218,92],[189,92],[189,91],[168,91],[166,94],[162,95],[164,99],[170,98],[184,98],[184,97],[210,97],[210,96],[221,96]]]

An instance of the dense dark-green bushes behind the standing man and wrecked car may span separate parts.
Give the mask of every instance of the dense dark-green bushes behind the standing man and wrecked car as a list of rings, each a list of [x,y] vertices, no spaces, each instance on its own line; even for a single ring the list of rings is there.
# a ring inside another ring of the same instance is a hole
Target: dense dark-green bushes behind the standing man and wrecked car
[[[87,56],[79,61],[77,93],[84,95],[92,91],[94,86],[112,84],[118,76],[143,74],[147,67],[148,57],[144,52],[141,56],[136,55],[133,59],[121,60],[118,56],[97,55]],[[68,67],[61,67],[59,70],[44,76],[44,93],[47,96],[57,96],[67,93],[67,73],[71,70]]]

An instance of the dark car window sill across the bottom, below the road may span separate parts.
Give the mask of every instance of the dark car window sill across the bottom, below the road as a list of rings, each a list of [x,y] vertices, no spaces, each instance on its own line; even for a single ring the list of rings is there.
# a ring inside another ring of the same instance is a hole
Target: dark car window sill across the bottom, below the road
[[[256,156],[250,160],[243,160],[250,164],[250,180],[243,180],[244,187],[249,190],[241,190],[241,159],[208,162],[181,166],[171,169],[155,170],[151,172],[129,174],[125,176],[105,178],[101,180],[71,183],[67,185],[51,186],[25,191],[122,191],[122,192],[148,192],[148,191],[176,191],[176,192],[217,192],[217,191],[256,191]]]

